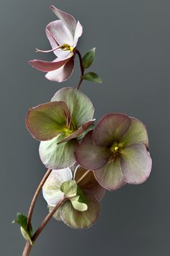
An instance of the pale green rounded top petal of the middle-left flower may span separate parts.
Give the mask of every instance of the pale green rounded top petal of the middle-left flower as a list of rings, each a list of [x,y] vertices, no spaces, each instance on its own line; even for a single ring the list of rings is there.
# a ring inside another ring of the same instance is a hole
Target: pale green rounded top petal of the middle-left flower
[[[51,101],[65,101],[71,113],[74,129],[93,119],[94,106],[89,98],[75,88],[62,88],[55,93]]]

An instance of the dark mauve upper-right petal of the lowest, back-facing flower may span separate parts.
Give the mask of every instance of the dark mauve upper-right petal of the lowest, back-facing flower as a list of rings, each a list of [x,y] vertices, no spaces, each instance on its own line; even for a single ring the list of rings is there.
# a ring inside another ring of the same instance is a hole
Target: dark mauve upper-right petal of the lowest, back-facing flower
[[[73,179],[78,182],[79,179],[81,179],[81,177],[86,173],[86,171],[86,168],[83,168],[82,166],[77,166]],[[84,176],[84,179],[82,179],[81,182],[78,183],[78,185],[83,191],[93,194],[97,198],[97,200],[102,200],[102,197],[104,197],[105,189],[97,182],[97,179],[95,179],[94,177],[93,171],[89,171],[86,176]]]

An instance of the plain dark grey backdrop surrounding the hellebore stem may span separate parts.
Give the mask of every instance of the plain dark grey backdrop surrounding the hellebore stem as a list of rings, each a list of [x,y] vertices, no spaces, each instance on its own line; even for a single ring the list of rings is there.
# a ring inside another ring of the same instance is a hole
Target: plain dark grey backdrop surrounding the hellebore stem
[[[84,26],[79,50],[97,47],[91,70],[102,85],[84,82],[81,89],[96,108],[97,119],[123,112],[148,127],[153,158],[150,178],[139,186],[107,192],[102,213],[89,230],[75,231],[54,219],[31,255],[169,256],[169,0],[1,0],[1,253],[22,254],[24,240],[11,222],[17,211],[27,214],[45,167],[39,142],[24,125],[28,108],[50,101],[60,88],[76,86],[73,76],[61,84],[45,80],[29,59],[52,60],[35,54],[50,48],[45,25],[55,20],[50,4],[73,14]],[[48,213],[40,196],[33,224]]]

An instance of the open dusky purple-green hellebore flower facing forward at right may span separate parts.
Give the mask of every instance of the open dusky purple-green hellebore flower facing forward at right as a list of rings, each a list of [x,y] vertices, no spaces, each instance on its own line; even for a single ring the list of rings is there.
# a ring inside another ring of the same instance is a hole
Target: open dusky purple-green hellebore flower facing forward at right
[[[146,127],[125,114],[107,114],[76,148],[76,161],[109,190],[140,184],[151,172]]]

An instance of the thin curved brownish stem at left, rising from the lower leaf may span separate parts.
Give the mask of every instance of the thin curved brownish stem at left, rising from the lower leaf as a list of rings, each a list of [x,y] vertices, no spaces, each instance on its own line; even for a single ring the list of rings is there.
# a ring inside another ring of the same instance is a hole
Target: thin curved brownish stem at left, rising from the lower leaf
[[[48,171],[46,172],[45,176],[43,176],[42,181],[40,182],[39,186],[37,187],[37,190],[35,191],[35,195],[32,198],[32,202],[30,204],[30,209],[28,212],[28,216],[27,216],[27,230],[30,231],[30,226],[31,226],[31,218],[32,218],[32,213],[35,207],[35,202],[37,201],[37,197],[40,194],[40,191],[42,189],[43,184],[45,184],[46,179],[48,179],[48,176],[51,173],[51,169],[48,169]]]

